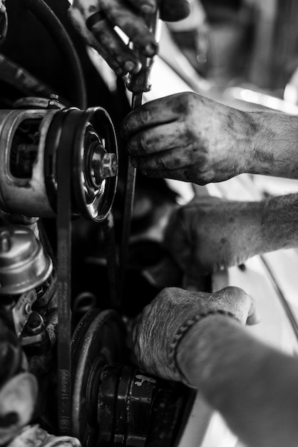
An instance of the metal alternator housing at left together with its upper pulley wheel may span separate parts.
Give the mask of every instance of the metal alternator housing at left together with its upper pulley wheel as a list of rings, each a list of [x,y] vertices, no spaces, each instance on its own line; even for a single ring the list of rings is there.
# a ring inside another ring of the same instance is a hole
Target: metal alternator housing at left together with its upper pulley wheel
[[[0,111],[0,208],[53,217],[58,151],[71,145],[71,211],[103,221],[118,180],[118,149],[105,109]]]

